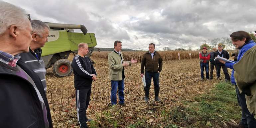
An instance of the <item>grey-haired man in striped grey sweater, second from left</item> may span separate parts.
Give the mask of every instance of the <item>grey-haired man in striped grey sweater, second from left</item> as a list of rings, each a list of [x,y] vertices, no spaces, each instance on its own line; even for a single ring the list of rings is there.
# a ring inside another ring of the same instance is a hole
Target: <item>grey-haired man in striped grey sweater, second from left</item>
[[[46,69],[45,63],[41,57],[41,48],[44,47],[45,42],[48,41],[47,38],[50,28],[46,23],[40,20],[31,20],[30,23],[33,29],[33,31],[31,32],[33,41],[31,41],[30,43],[29,52],[20,54],[20,60],[26,63],[33,71],[37,73],[42,81],[46,93]]]

